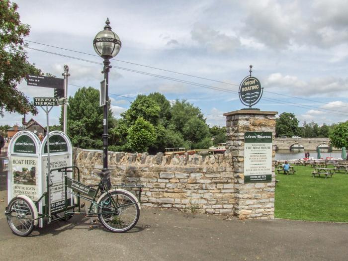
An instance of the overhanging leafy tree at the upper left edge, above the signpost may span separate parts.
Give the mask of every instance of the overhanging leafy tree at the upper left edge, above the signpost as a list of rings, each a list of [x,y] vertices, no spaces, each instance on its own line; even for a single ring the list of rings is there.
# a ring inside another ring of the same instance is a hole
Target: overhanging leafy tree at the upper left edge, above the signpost
[[[18,5],[9,0],[0,1],[0,115],[3,110],[37,114],[37,109],[17,85],[28,74],[41,71],[27,61],[23,38],[29,35],[29,25],[22,24],[16,11]]]

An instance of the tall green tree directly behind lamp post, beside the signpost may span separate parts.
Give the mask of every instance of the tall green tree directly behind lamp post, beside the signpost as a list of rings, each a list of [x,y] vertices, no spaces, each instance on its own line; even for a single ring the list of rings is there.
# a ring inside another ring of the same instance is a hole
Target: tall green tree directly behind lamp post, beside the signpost
[[[103,107],[99,106],[99,90],[92,87],[80,88],[74,97],[69,97],[68,102],[67,130],[73,145],[84,149],[101,149]],[[109,128],[114,127],[113,123],[109,108]]]

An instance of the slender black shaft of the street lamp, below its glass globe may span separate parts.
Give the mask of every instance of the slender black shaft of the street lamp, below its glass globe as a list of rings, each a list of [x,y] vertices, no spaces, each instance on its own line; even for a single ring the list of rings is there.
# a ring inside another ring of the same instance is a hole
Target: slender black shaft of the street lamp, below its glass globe
[[[108,147],[108,138],[109,135],[107,133],[108,128],[108,120],[107,120],[107,112],[108,112],[108,102],[109,102],[109,71],[110,71],[110,61],[109,59],[104,59],[104,79],[105,79],[105,105],[104,105],[104,119],[103,119],[103,169],[102,171],[107,171],[107,147]]]

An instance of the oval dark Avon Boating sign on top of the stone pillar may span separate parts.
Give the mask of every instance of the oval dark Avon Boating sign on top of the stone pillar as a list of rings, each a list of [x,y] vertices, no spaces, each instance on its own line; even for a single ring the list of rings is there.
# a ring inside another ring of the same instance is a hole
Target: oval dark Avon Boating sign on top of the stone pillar
[[[244,78],[239,86],[239,98],[244,105],[249,107],[259,102],[262,92],[260,81],[253,76]]]

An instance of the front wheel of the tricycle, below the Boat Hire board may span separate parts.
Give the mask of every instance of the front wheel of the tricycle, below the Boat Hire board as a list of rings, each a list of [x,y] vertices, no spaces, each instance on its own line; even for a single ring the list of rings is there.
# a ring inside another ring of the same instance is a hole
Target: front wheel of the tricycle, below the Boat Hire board
[[[7,223],[13,234],[25,237],[34,229],[34,210],[24,198],[13,198],[7,207]]]

